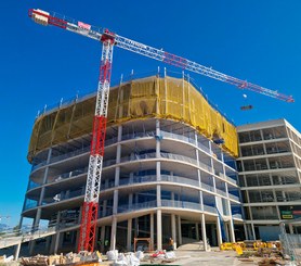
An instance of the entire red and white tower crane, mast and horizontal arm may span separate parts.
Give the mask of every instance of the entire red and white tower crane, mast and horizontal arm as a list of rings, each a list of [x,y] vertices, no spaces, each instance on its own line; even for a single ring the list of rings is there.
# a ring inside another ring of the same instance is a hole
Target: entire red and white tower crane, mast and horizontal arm
[[[119,47],[183,69],[234,85],[239,89],[251,90],[286,102],[293,102],[291,96],[286,96],[278,91],[232,77],[214,71],[211,67],[166,52],[162,49],[156,49],[122,37],[107,28],[95,27],[54,12],[50,13],[39,9],[30,9],[28,15],[38,24],[44,26],[53,25],[103,43],[78,251],[93,251],[94,249],[114,47]]]

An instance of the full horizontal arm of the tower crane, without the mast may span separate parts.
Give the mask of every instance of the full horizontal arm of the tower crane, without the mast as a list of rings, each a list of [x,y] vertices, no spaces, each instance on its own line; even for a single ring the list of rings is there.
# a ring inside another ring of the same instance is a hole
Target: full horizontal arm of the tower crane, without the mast
[[[271,98],[275,98],[286,102],[293,102],[293,98],[291,96],[286,96],[277,90],[271,90],[246,80],[241,80],[230,75],[223,74],[221,72],[214,71],[211,67],[204,66],[191,60],[181,58],[179,55],[169,53],[163,51],[162,49],[153,48],[150,46],[146,46],[144,43],[131,40],[129,38],[119,36],[117,34],[112,33],[108,29],[104,29],[101,27],[95,27],[93,25],[76,21],[74,18],[66,17],[64,15],[60,15],[57,13],[50,14],[49,12],[42,10],[29,10],[29,16],[38,24],[41,25],[54,25],[61,28],[65,28],[67,30],[74,31],[76,34],[80,34],[82,36],[102,41],[104,35],[114,39],[114,45],[121,49],[139,53],[141,55],[161,61],[163,63],[178,66],[183,69],[187,69],[223,83],[227,83],[236,86],[239,89],[251,90],[257,93],[261,93]]]

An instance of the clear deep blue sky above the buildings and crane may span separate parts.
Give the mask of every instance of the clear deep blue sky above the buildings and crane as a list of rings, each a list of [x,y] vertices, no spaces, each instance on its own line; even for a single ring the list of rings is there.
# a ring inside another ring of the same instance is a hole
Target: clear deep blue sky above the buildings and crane
[[[301,130],[299,0],[0,1],[0,216],[12,216],[11,226],[18,221],[28,182],[30,165],[26,155],[38,110],[61,98],[95,90],[101,56],[96,41],[31,22],[27,16],[30,8],[107,27],[225,74],[292,94],[296,103],[285,103],[191,74],[236,125],[285,117]],[[143,74],[158,66],[165,65],[116,48],[113,80],[132,69]],[[254,109],[239,111],[246,104]]]

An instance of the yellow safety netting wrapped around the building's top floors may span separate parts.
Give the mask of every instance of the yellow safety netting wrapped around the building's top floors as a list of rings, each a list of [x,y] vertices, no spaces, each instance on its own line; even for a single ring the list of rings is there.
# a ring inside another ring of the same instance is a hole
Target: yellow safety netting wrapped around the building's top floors
[[[95,97],[40,116],[32,129],[28,161],[52,144],[92,131]],[[237,156],[237,132],[189,83],[172,77],[147,77],[110,89],[108,126],[147,117],[170,118],[195,127],[208,138],[223,138],[222,148]]]

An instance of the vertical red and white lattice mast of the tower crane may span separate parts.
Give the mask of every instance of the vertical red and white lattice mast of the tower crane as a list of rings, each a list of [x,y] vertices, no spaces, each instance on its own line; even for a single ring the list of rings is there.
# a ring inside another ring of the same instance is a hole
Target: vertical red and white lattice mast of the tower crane
[[[114,38],[103,35],[102,42],[100,79],[93,119],[86,193],[81,212],[78,251],[93,251],[95,242]]]

